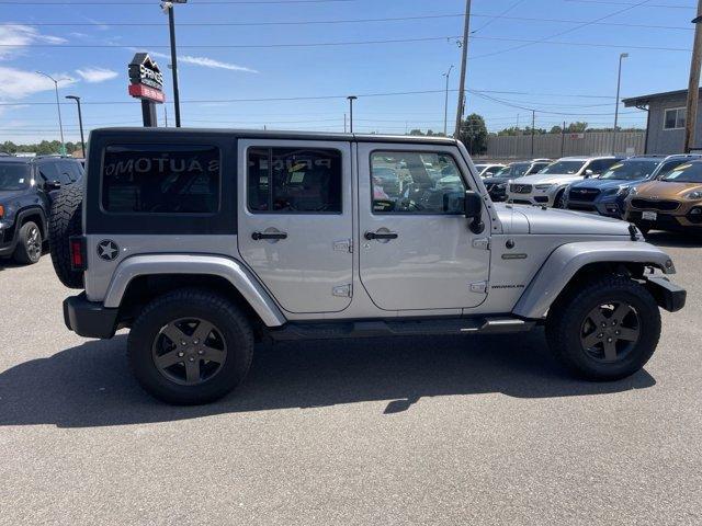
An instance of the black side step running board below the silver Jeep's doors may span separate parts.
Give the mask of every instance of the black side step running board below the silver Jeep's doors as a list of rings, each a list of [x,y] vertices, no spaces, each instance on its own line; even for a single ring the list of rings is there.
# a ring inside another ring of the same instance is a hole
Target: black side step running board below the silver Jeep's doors
[[[455,318],[407,321],[350,321],[287,323],[268,329],[275,341],[338,338],[414,336],[431,334],[499,334],[529,331],[535,322],[518,318]]]

